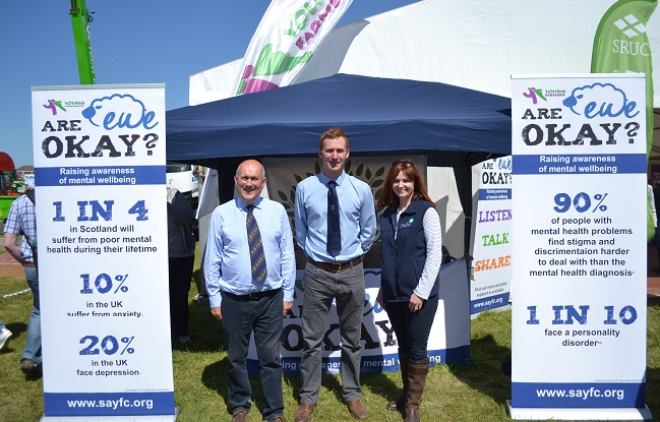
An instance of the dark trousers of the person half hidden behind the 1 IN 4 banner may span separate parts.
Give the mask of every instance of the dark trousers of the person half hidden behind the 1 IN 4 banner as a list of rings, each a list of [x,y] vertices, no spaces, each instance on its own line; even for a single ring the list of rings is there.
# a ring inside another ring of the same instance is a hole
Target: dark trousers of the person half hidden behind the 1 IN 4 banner
[[[195,256],[169,258],[170,324],[172,337],[188,335],[188,292]]]

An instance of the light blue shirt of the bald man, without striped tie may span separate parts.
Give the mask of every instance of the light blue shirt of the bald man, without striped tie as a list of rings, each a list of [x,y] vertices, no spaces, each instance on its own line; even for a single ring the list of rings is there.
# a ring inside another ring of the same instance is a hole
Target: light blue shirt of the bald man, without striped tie
[[[268,276],[263,283],[252,279],[245,227],[247,204],[240,198],[225,202],[211,215],[206,241],[204,278],[212,308],[221,306],[220,292],[247,295],[281,287],[284,301],[293,301],[296,264],[293,234],[286,210],[277,202],[259,198],[252,215],[259,225]]]

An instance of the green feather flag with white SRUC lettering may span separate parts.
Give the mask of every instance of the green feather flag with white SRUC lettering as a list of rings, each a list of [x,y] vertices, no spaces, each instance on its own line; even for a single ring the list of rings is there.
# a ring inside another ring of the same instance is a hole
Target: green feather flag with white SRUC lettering
[[[658,0],[619,0],[603,15],[591,57],[592,73],[646,74],[646,157],[653,145],[653,63],[651,43],[646,34],[648,21]],[[648,239],[652,239],[655,224],[648,208]]]

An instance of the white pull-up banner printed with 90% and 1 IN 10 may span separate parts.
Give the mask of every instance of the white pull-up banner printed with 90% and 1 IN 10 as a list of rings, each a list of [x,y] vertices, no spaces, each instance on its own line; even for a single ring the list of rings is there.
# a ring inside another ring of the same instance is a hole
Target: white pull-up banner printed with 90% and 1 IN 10
[[[514,419],[650,417],[641,74],[512,80]]]

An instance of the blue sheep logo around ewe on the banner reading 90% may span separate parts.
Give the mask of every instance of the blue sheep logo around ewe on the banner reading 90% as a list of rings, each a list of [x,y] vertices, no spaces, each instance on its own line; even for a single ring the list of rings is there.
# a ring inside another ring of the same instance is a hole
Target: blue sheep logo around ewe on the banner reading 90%
[[[628,101],[626,93],[612,84],[595,83],[575,88],[563,104],[573,113],[587,119],[618,117],[622,114],[633,118],[639,114],[637,103]]]

